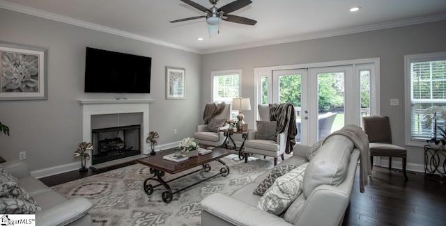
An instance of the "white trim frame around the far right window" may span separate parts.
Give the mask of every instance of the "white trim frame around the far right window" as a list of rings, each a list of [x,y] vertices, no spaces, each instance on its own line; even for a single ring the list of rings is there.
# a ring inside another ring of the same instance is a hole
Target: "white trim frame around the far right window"
[[[406,145],[423,147],[426,145],[425,140],[414,140],[412,138],[412,97],[411,97],[411,81],[410,81],[410,63],[446,60],[446,51],[428,54],[413,54],[404,56],[404,80],[405,80],[405,96],[406,96]]]

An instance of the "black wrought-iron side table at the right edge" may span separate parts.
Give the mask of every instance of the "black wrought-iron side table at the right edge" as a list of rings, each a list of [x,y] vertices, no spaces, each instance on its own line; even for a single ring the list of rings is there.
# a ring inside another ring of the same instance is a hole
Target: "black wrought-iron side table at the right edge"
[[[443,159],[443,170],[438,168],[441,166],[441,159]],[[424,177],[441,184],[446,181],[446,150],[424,145]]]

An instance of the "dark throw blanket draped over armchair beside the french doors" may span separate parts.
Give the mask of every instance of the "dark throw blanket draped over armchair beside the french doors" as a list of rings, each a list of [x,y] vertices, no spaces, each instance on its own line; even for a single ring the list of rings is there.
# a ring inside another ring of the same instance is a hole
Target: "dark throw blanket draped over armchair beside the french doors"
[[[286,136],[286,154],[293,151],[295,145],[295,136],[298,129],[295,126],[295,111],[293,104],[270,104],[270,120],[277,121],[276,135],[283,133],[288,127],[288,135]]]

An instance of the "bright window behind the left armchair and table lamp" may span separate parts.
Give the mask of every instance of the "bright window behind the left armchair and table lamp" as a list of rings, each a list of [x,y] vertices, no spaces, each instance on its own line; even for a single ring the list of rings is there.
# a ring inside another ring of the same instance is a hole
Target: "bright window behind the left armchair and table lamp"
[[[240,97],[242,70],[211,72],[213,102],[232,104],[233,98]],[[232,111],[231,118],[236,119],[238,111]]]

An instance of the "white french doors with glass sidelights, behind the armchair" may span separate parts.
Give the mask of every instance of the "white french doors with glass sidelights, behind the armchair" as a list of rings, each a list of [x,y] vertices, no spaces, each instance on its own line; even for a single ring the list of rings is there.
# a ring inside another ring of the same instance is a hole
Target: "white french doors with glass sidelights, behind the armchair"
[[[259,72],[259,104],[292,103],[298,143],[312,144],[370,114],[373,64]],[[364,76],[365,75],[365,76]],[[375,100],[375,98],[372,98]],[[376,112],[376,111],[373,111]]]

